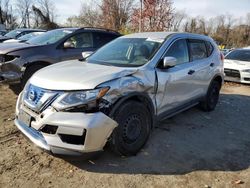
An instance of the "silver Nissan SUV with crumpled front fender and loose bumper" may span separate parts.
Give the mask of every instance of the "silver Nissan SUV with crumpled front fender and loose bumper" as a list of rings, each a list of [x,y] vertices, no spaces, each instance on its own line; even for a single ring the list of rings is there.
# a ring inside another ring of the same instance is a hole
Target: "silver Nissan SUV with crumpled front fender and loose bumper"
[[[157,120],[195,105],[214,110],[223,84],[214,41],[189,33],[120,37],[85,61],[35,73],[19,95],[16,126],[54,154],[136,154]]]

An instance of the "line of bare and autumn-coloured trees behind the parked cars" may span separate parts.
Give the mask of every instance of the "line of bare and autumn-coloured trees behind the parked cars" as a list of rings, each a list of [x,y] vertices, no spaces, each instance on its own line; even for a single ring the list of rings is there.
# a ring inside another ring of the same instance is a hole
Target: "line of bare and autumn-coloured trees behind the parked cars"
[[[82,1],[80,13],[56,23],[53,0],[0,0],[0,23],[8,29],[36,27],[103,27],[123,34],[178,31],[211,36],[226,48],[250,46],[250,12],[243,18],[224,14],[210,19],[177,11],[172,0]],[[58,2],[60,3],[60,2]]]

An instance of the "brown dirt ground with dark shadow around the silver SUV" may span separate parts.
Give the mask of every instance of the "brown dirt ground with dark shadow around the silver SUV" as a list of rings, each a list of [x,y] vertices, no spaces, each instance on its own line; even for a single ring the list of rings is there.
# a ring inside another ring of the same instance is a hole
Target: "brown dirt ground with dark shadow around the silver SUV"
[[[156,128],[143,150],[58,158],[13,124],[17,96],[0,86],[0,187],[250,187],[250,87],[224,85],[214,112],[192,108]]]

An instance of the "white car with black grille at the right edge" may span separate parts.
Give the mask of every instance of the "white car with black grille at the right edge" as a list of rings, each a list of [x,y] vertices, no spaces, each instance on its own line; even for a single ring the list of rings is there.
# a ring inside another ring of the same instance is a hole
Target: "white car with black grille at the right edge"
[[[225,80],[250,83],[250,49],[236,49],[225,57]]]

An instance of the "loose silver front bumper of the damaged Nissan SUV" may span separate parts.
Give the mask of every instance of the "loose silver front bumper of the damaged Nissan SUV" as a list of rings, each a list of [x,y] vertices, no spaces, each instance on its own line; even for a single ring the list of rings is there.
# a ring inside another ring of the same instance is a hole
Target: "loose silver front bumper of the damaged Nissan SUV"
[[[19,107],[18,103],[15,125],[33,143],[53,154],[101,151],[117,126],[102,112],[57,112],[48,108],[35,114],[23,105]]]

